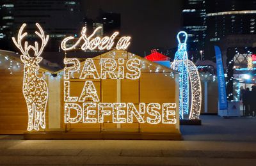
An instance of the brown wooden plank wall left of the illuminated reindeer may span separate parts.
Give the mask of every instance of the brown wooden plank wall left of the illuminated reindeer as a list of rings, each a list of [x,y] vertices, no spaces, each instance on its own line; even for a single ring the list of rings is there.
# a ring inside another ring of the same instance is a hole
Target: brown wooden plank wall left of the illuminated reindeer
[[[22,134],[26,132],[28,111],[22,94],[23,70],[10,74],[0,70],[0,134]]]

